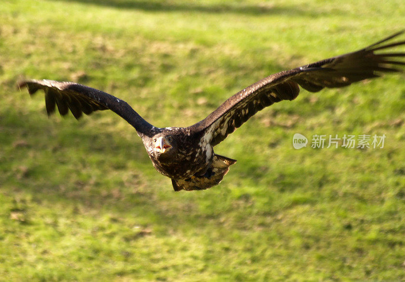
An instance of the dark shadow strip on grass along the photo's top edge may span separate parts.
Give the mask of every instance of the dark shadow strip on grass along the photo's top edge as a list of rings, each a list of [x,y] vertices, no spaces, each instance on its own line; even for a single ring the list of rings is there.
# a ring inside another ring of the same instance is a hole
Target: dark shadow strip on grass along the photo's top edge
[[[269,15],[282,14],[286,16],[311,16],[328,15],[324,11],[307,11],[298,6],[281,7],[273,5],[249,5],[237,3],[202,5],[197,3],[164,3],[160,1],[142,0],[60,0],[64,2],[81,2],[85,4],[114,7],[119,9],[137,9],[150,12],[198,12],[198,13],[223,13],[223,14],[249,14]]]

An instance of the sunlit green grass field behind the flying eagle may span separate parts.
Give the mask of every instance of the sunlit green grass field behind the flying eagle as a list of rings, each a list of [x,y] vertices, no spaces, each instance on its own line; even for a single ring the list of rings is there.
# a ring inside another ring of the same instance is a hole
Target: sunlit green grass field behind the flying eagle
[[[2,0],[0,280],[405,279],[403,74],[261,111],[215,148],[238,160],[223,182],[195,193],[175,193],[112,112],[48,119],[42,93],[15,89],[73,80],[155,126],[188,126],[404,15],[402,0]],[[294,133],[387,137],[295,150]]]

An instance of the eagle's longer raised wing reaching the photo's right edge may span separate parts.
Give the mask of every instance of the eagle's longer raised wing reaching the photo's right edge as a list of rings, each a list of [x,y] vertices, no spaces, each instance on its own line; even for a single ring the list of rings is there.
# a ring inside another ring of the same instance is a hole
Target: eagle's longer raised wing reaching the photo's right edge
[[[401,69],[396,66],[404,66],[405,61],[398,59],[405,57],[405,52],[375,52],[405,45],[405,41],[387,43],[404,32],[395,33],[356,52],[265,77],[237,92],[204,120],[191,125],[190,132],[204,132],[206,140],[215,146],[264,107],[281,100],[295,99],[299,86],[317,92],[325,87],[343,87],[378,77],[384,72],[399,72]]]

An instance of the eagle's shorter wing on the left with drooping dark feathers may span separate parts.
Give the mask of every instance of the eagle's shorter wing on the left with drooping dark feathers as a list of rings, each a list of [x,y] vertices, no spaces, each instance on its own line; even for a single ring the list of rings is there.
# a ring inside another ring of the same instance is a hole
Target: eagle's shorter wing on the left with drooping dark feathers
[[[111,110],[131,124],[139,134],[150,135],[153,126],[146,122],[127,102],[95,88],[74,82],[54,80],[24,80],[18,87],[27,87],[30,95],[42,89],[45,92],[45,104],[48,115],[55,112],[64,116],[69,110],[78,119],[99,110]]]

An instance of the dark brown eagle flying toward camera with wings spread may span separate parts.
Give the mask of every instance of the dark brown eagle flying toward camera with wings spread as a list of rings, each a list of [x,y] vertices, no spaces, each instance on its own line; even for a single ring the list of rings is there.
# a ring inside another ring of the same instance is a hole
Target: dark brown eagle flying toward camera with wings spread
[[[405,41],[391,40],[395,33],[364,49],[316,63],[281,71],[240,90],[205,119],[189,127],[158,128],[144,120],[123,100],[103,91],[53,80],[24,80],[30,95],[38,89],[45,92],[48,115],[64,116],[69,110],[78,119],[98,110],[111,110],[135,127],[155,169],[172,179],[175,191],[204,190],[221,182],[236,160],[214,154],[221,143],[242,123],[263,108],[282,100],[294,100],[300,87],[317,92],[322,88],[343,87],[363,79],[379,77],[385,72],[400,72],[405,52],[388,51]],[[391,42],[389,42],[391,41]],[[385,53],[376,54],[384,50]]]

